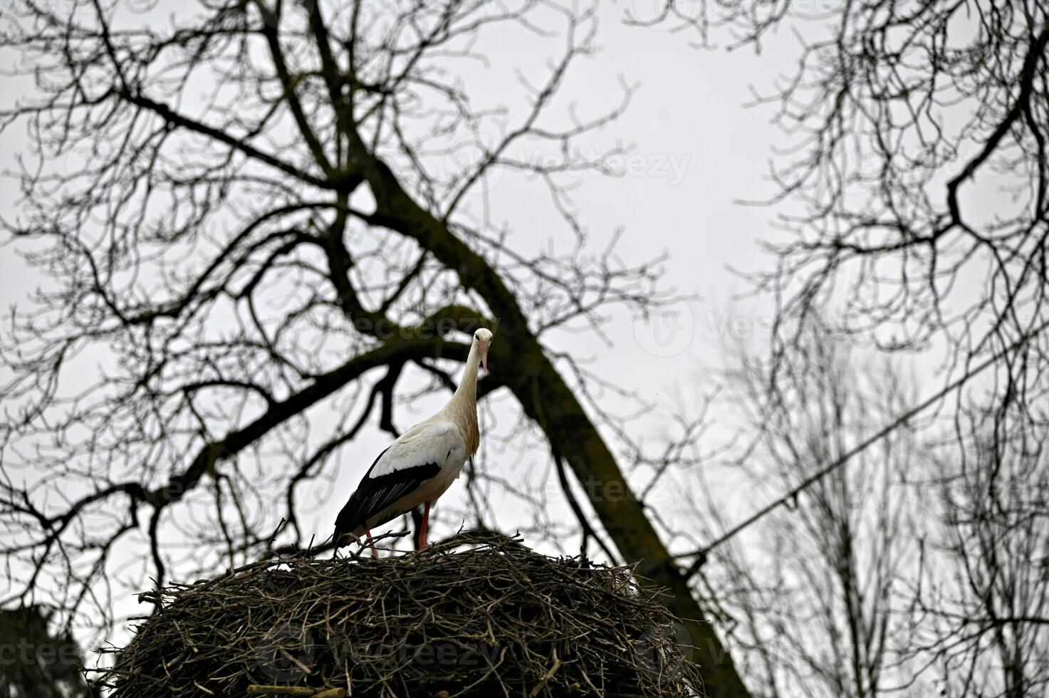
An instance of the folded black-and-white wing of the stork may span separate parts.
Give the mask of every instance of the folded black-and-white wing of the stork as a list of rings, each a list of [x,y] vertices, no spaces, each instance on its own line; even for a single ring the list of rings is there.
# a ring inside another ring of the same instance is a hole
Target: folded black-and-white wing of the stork
[[[336,545],[343,533],[356,530],[441,472],[441,466],[456,449],[456,442],[462,441],[458,428],[450,422],[423,422],[405,431],[379,454],[339,512]]]

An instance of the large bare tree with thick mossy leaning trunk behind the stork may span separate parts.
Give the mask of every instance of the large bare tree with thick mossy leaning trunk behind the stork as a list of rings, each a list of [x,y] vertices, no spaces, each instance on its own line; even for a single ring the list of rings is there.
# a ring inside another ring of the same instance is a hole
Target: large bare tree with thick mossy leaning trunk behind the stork
[[[395,432],[403,398],[449,385],[457,333],[497,324],[479,394],[512,396],[504,433],[541,437],[584,547],[669,590],[709,695],[748,695],[614,456],[644,450],[590,399],[597,378],[550,348],[600,332],[612,304],[667,299],[658,260],[591,250],[562,186],[611,168],[573,144],[630,96],[552,114],[594,49],[593,8],[19,0],[2,21],[33,83],[2,114],[28,134],[4,229],[48,279],[2,336],[8,601],[49,596],[104,627],[144,575],[308,547],[312,500],[377,402]],[[492,109],[456,75],[502,30],[554,59]],[[520,173],[562,217],[559,252],[516,247],[491,215],[492,178]],[[469,470],[472,509],[497,527],[487,485],[529,492],[486,471]]]

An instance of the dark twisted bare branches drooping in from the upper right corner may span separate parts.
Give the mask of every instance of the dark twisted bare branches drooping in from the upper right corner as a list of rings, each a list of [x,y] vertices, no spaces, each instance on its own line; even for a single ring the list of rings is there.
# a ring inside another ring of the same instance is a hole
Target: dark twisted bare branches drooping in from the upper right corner
[[[796,30],[796,68],[756,100],[791,153],[772,171],[784,239],[752,277],[778,302],[775,355],[809,313],[960,371],[1035,335],[996,387],[1002,419],[1030,419],[1049,337],[1045,3],[670,0],[635,21],[753,46]]]

